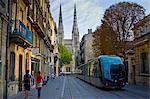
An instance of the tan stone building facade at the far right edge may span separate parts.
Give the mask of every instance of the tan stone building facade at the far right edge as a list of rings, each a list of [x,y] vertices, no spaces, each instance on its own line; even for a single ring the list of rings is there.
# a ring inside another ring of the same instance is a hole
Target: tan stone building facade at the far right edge
[[[150,15],[136,23],[133,30],[135,83],[150,85]]]

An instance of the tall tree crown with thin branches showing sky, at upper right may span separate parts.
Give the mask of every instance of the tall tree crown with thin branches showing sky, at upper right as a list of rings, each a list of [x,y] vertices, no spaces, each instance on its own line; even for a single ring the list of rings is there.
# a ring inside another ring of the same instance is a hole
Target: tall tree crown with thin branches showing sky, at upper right
[[[129,2],[120,2],[110,6],[104,14],[103,20],[118,34],[120,47],[125,51],[125,42],[131,40],[133,36],[132,28],[134,24],[145,16],[145,9]]]

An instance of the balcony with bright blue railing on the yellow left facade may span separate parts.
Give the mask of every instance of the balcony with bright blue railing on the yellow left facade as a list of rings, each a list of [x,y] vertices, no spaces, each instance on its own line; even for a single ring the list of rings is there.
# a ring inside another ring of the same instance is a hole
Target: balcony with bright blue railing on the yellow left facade
[[[21,36],[24,40],[27,40],[29,43],[32,44],[32,32],[20,20],[14,20],[12,22],[11,35]]]

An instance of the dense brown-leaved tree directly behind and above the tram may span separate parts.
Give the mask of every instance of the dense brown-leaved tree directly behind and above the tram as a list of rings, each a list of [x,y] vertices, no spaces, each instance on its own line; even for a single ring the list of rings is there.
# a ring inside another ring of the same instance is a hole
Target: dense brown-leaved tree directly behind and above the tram
[[[100,54],[117,54],[117,34],[104,21],[94,32],[94,52],[96,56]]]

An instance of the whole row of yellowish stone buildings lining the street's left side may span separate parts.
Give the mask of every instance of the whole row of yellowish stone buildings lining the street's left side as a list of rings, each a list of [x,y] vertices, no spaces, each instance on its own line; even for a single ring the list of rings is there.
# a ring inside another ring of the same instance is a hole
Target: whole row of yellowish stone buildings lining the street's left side
[[[0,0],[0,99],[22,91],[25,70],[57,76],[57,42],[49,0]]]

